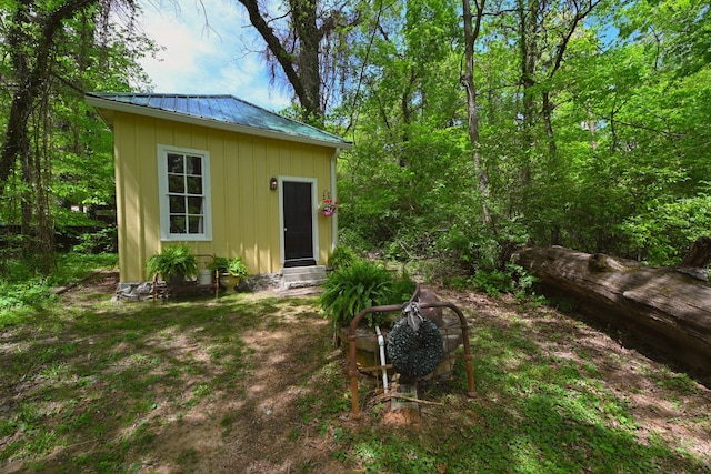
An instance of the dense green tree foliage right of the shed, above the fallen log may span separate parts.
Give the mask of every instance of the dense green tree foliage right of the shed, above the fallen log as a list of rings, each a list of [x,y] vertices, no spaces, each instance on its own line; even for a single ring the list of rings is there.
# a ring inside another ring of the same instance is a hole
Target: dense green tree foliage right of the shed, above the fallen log
[[[358,144],[338,163],[349,242],[388,259],[437,260],[439,273],[491,289],[502,286],[497,272],[507,273],[515,244],[669,264],[708,234],[707,3],[598,3],[577,24],[547,3],[540,22],[527,20],[537,22],[535,37],[513,34],[521,19],[488,4],[474,44],[478,143],[467,135],[463,91],[451,89],[463,53],[451,8],[393,6],[380,24],[401,31],[399,41],[362,32]],[[423,18],[424,30],[414,27]],[[538,61],[522,91],[525,41],[538,46],[528,49]],[[544,98],[550,122],[540,112]]]

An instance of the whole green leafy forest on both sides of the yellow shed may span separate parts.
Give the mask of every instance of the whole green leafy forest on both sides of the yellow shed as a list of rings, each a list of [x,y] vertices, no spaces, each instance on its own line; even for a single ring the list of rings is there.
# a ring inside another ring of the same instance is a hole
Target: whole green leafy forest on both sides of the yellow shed
[[[342,244],[475,282],[523,243],[671,264],[709,234],[707,2],[239,3],[293,91],[282,112],[354,143]],[[3,268],[116,250],[112,137],[83,93],[151,90],[141,8],[0,1]]]

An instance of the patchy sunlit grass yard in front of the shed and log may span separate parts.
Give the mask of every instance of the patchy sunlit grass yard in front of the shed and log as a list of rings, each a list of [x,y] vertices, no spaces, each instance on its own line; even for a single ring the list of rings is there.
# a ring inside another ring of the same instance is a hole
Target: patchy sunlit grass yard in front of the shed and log
[[[710,391],[542,306],[445,293],[478,396],[417,423],[359,379],[312,297],[110,302],[86,284],[0,329],[0,472],[711,472]]]

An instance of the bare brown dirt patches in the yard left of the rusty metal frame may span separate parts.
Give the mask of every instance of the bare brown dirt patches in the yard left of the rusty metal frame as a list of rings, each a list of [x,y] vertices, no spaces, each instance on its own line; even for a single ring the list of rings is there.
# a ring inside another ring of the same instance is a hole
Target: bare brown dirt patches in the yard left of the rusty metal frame
[[[83,304],[87,294],[113,294],[117,283],[116,272],[100,272],[66,289],[62,297],[72,304]],[[300,290],[288,295],[300,294],[313,294],[313,291]],[[268,296],[274,294],[260,292],[244,297]],[[171,423],[170,430],[159,434],[152,443],[160,446],[159,457],[141,460],[140,472],[167,474],[184,472],[189,466],[188,472],[192,473],[263,474],[298,472],[297,466],[307,465],[323,473],[342,472],[342,464],[332,456],[330,437],[310,431],[313,423],[304,424],[293,403],[304,395],[302,385],[308,376],[304,373],[309,373],[310,366],[324,363],[312,360],[309,352],[314,342],[322,341],[329,332],[329,323],[320,317],[299,319],[298,311],[284,315],[294,324],[283,325],[283,331],[260,326],[241,335],[253,361],[247,376],[241,379],[244,392],[227,403],[216,396],[218,402],[201,403],[198,410],[163,414],[168,420],[180,416],[181,423]],[[194,354],[201,350],[187,339],[176,339],[173,344],[174,353]],[[333,349],[328,356],[339,361],[342,374],[347,373],[339,349]],[[153,416],[161,414],[156,411]],[[227,421],[230,426],[226,426]],[[351,423],[348,416],[341,421],[344,425]],[[298,438],[294,433],[299,433]],[[190,456],[194,456],[194,462],[187,458]]]

